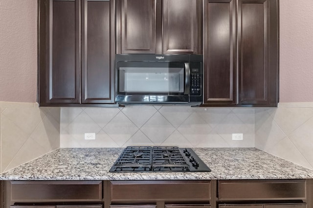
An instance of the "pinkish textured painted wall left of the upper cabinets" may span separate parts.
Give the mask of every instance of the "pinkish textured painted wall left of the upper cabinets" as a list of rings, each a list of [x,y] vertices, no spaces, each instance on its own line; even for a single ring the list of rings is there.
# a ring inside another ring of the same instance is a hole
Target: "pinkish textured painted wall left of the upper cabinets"
[[[0,101],[37,100],[37,0],[0,0]]]

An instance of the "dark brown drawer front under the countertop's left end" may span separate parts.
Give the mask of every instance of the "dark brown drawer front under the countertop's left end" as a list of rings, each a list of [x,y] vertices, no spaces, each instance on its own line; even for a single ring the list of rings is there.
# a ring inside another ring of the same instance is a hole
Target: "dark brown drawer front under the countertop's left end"
[[[12,181],[14,202],[101,201],[102,181]]]

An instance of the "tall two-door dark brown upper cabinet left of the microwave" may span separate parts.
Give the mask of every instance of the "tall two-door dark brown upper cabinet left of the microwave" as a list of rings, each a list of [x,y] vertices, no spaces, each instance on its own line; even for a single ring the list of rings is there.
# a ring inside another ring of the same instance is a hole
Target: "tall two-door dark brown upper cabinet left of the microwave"
[[[114,4],[38,0],[39,104],[114,103]]]

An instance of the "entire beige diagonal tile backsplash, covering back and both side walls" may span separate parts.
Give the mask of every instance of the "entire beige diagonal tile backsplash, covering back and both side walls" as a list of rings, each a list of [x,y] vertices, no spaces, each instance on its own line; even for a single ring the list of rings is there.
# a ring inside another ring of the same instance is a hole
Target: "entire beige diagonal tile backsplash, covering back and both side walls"
[[[256,147],[313,170],[313,103],[278,108],[48,108],[0,102],[0,172],[61,148]],[[84,140],[84,133],[96,140]],[[243,133],[234,141],[232,133]]]

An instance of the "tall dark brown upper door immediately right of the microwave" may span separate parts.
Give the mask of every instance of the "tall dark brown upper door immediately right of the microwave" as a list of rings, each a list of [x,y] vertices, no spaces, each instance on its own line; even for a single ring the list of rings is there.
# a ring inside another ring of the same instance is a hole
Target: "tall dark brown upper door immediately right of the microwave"
[[[204,104],[236,104],[236,0],[204,1]]]

